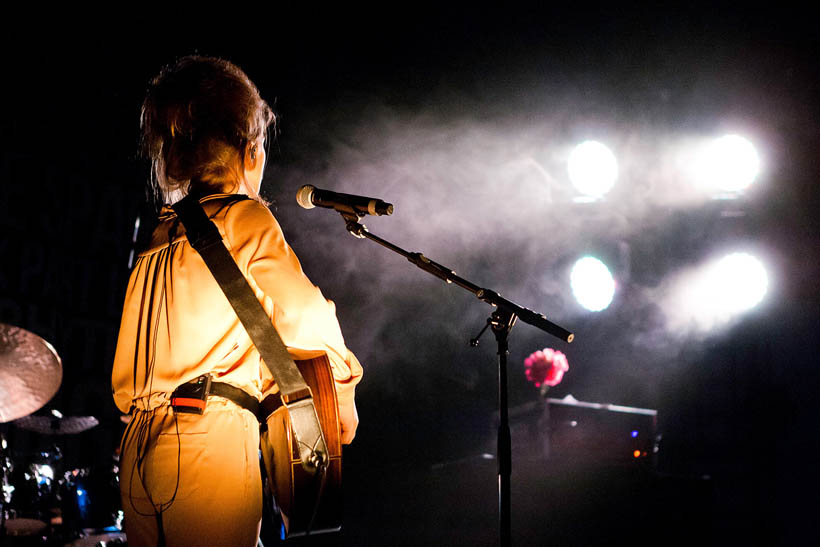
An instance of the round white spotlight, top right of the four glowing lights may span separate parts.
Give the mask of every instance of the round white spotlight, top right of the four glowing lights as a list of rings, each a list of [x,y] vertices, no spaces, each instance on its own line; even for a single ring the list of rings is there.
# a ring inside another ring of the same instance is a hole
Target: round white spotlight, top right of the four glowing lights
[[[726,135],[702,152],[697,180],[704,188],[725,193],[745,190],[760,172],[754,145],[743,137]]]

